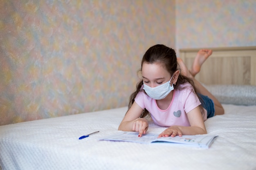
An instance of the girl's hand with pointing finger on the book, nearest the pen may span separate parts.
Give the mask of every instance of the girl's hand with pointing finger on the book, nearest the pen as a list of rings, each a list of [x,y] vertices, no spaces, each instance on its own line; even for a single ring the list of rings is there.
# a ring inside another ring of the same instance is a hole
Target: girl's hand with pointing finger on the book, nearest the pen
[[[139,137],[142,136],[142,134],[145,134],[148,130],[148,121],[145,118],[138,118],[135,119],[132,123],[132,130],[135,132],[139,132]]]

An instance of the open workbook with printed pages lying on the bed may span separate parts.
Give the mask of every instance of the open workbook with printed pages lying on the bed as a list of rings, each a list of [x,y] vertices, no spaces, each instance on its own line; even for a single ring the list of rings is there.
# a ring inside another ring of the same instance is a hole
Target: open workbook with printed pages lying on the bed
[[[108,141],[129,141],[140,144],[150,144],[155,142],[169,142],[171,144],[182,144],[199,148],[209,148],[218,135],[183,135],[182,137],[160,137],[156,134],[145,134],[138,137],[138,132],[121,132],[117,135],[102,138]]]

